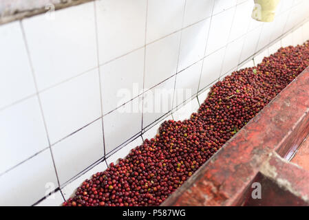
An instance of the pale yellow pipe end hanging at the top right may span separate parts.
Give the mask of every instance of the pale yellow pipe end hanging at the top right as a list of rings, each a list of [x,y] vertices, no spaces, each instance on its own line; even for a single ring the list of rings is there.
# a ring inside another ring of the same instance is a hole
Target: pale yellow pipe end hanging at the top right
[[[262,22],[272,22],[275,19],[276,8],[280,0],[254,0],[252,18]]]

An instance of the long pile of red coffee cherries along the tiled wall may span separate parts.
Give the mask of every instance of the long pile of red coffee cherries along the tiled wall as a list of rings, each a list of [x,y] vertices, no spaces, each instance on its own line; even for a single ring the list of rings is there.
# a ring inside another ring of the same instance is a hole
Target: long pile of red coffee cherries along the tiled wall
[[[308,42],[217,82],[198,113],[165,121],[118,164],[77,188],[63,206],[158,206],[309,65]]]

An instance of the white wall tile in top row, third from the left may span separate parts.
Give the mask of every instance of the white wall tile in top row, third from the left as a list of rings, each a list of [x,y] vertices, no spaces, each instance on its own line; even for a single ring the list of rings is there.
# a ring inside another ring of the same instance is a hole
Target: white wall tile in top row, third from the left
[[[145,45],[147,1],[96,1],[100,64]]]

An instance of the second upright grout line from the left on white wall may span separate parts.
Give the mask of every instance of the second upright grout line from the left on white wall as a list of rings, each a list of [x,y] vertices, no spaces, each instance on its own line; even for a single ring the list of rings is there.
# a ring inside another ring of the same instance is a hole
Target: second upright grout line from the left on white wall
[[[94,1],[94,27],[95,27],[95,32],[96,32],[96,62],[97,62],[97,66],[98,66],[98,85],[99,85],[99,89],[100,89],[100,107],[101,107],[101,117],[102,117],[102,136],[103,136],[103,156],[105,156],[105,135],[104,135],[104,122],[103,122],[103,98],[102,98],[102,86],[101,85],[101,74],[100,74],[100,61],[99,61],[99,48],[98,48],[98,17],[96,14],[96,1]]]

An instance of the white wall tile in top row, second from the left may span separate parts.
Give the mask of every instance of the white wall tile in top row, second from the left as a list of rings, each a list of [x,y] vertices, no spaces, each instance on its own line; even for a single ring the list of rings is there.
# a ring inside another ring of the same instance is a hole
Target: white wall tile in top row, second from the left
[[[22,21],[40,91],[97,65],[94,3],[54,13]]]

